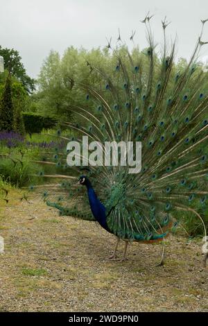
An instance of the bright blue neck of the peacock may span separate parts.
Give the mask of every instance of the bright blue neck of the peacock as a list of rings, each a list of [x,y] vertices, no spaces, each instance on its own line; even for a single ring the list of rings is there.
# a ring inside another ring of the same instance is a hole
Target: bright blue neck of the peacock
[[[105,206],[98,200],[96,192],[94,191],[90,182],[87,182],[87,194],[89,198],[89,205],[92,210],[92,214],[96,221],[107,231],[109,231],[107,227],[106,215],[105,215]]]

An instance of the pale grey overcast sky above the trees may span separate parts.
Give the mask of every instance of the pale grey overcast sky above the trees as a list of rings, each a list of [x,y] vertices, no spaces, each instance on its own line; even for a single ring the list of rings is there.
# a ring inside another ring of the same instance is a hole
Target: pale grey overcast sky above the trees
[[[105,46],[105,37],[121,37],[146,46],[144,24],[150,10],[155,40],[162,40],[161,19],[171,21],[168,35],[177,34],[177,55],[189,58],[200,33],[200,19],[208,18],[207,0],[0,0],[0,44],[17,49],[28,74],[37,77],[51,49],[61,54],[68,46]],[[208,22],[203,41],[208,41]],[[208,55],[208,46],[202,56]]]

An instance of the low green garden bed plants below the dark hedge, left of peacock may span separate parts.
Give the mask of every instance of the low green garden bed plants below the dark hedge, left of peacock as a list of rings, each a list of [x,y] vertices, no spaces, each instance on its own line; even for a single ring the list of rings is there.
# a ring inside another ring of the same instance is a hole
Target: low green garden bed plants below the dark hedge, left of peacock
[[[43,160],[47,155],[47,151],[53,151],[53,146],[42,148],[38,143],[50,143],[54,141],[53,134],[55,131],[50,131],[51,135],[26,135],[26,141],[30,141],[32,145],[27,145],[26,142],[19,142],[16,147],[9,148],[5,146],[3,141],[0,142],[0,180],[4,184],[8,183],[15,187],[26,187],[31,184],[41,184],[46,182],[45,178],[40,178],[40,166],[35,161]],[[33,146],[33,143],[37,146]],[[44,166],[41,172],[44,174],[54,173],[55,166]],[[47,180],[49,181],[49,180]]]

